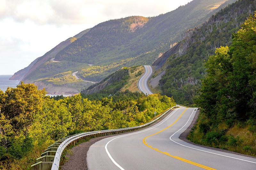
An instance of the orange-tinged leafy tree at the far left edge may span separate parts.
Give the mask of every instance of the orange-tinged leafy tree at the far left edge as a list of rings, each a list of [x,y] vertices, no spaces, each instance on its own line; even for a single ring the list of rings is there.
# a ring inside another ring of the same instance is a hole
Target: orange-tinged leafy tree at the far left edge
[[[46,91],[37,90],[34,84],[21,82],[17,88],[8,88],[4,100],[1,99],[2,110],[7,120],[10,120],[13,131],[18,135],[28,133],[34,122],[34,116],[42,109]],[[2,95],[3,96],[3,95]]]

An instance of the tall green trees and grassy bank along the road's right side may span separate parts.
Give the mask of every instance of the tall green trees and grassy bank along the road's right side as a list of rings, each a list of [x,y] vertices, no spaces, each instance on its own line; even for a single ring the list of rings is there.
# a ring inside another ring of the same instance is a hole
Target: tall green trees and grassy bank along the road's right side
[[[205,64],[201,112],[189,139],[256,156],[256,12],[241,27],[231,46],[216,49]]]

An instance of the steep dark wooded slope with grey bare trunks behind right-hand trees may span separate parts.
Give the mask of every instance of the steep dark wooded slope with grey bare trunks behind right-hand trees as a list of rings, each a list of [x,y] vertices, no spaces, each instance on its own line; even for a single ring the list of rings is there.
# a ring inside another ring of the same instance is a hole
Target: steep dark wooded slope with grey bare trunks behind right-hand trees
[[[191,105],[205,77],[204,62],[216,48],[230,45],[232,34],[248,15],[256,10],[254,0],[239,0],[213,15],[202,26],[189,30],[178,43],[162,69],[159,81],[164,95],[173,96],[177,103]]]

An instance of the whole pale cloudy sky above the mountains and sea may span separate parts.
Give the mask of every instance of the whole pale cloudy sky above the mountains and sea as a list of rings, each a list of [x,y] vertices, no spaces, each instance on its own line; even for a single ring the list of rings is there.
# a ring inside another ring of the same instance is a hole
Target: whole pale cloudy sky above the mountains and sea
[[[14,74],[60,42],[109,19],[152,17],[191,0],[0,0],[0,75]]]

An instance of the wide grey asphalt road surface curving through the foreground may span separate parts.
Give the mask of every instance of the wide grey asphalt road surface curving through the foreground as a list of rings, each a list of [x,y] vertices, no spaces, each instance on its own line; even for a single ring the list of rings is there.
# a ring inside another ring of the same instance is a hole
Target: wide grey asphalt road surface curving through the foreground
[[[256,159],[215,151],[179,139],[195,108],[178,108],[156,125],[102,139],[87,152],[89,169],[256,169]]]

